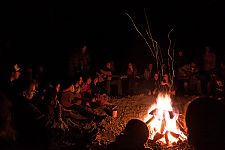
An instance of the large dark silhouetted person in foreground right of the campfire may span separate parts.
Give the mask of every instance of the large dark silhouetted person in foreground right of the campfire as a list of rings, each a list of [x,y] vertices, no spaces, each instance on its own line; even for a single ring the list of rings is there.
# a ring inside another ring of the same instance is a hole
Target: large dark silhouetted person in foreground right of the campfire
[[[196,150],[225,149],[225,106],[216,99],[193,100],[186,111],[188,141]]]

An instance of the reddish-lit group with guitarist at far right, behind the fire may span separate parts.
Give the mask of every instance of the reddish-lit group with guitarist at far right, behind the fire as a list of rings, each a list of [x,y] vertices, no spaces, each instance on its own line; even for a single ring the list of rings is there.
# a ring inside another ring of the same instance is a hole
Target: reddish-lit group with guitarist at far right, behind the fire
[[[224,97],[225,62],[217,59],[212,48],[205,47],[203,55],[189,63],[184,62],[182,52],[179,57],[176,85],[180,94]]]

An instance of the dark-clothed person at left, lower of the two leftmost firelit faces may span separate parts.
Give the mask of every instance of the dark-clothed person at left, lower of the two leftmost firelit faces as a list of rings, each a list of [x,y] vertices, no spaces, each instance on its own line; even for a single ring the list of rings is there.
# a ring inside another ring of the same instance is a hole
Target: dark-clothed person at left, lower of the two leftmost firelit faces
[[[20,95],[12,103],[16,142],[23,150],[45,149],[48,142],[48,118],[32,103],[36,81],[21,81],[19,89]]]

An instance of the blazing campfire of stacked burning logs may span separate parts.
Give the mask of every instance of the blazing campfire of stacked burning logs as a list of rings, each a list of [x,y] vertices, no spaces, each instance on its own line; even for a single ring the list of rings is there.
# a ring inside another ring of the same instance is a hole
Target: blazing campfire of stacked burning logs
[[[159,94],[144,119],[150,131],[149,139],[167,145],[185,141],[187,136],[178,118],[179,112],[172,107],[170,96]]]

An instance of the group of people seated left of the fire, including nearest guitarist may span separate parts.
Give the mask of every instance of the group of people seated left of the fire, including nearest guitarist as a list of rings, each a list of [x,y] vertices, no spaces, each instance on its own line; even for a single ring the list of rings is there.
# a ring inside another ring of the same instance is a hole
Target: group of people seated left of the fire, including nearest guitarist
[[[41,74],[32,74],[31,68],[22,71],[18,64],[9,65],[4,71],[0,86],[1,121],[4,123],[1,126],[6,131],[0,137],[6,138],[3,142],[6,149],[10,146],[15,149],[46,149],[56,142],[49,140],[62,130],[69,130],[63,137],[70,134],[68,141],[77,142],[84,148],[96,136],[98,124],[112,116],[116,107],[110,103],[107,92],[101,90],[98,78],[93,82],[90,77],[83,81],[81,76],[76,82],[46,83]],[[98,114],[96,109],[105,113]],[[66,121],[68,118],[72,125]],[[76,123],[78,127],[74,126]],[[95,125],[82,129],[89,123]]]

